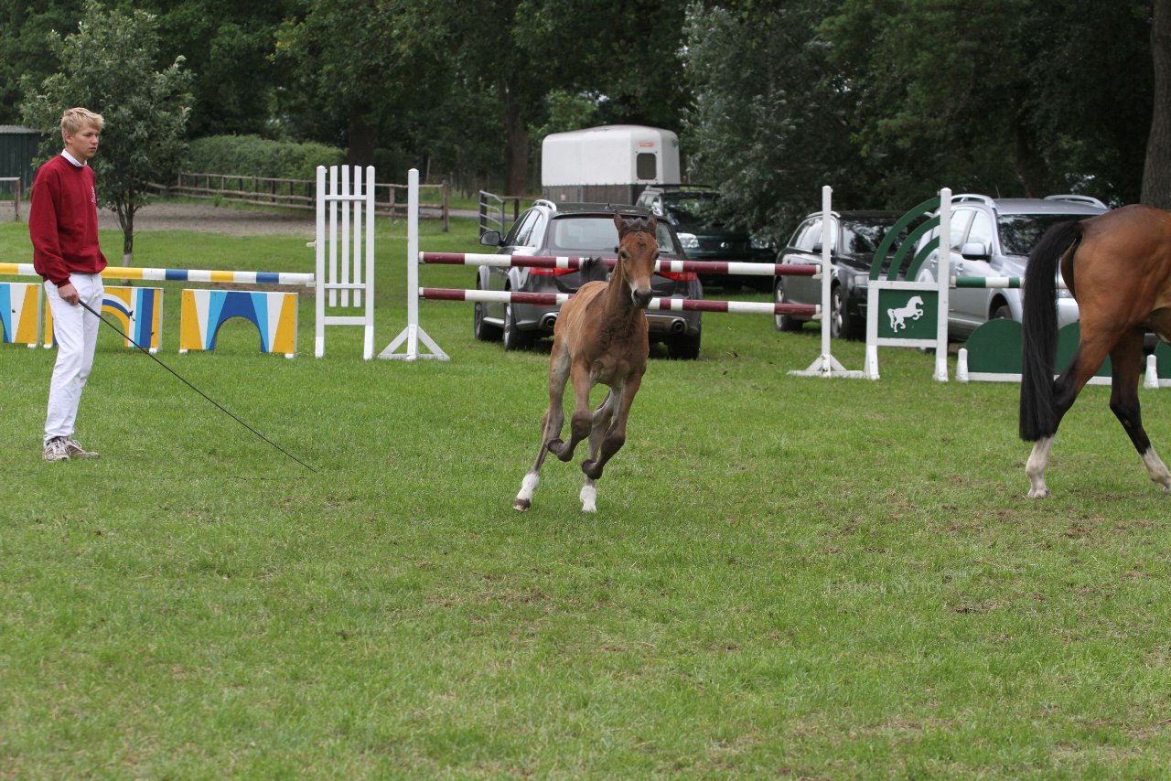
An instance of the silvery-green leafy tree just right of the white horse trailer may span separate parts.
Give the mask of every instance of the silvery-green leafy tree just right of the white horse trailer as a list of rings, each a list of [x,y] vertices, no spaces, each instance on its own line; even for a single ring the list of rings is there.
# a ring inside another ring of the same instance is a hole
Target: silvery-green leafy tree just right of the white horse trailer
[[[687,16],[686,118],[693,177],[719,186],[727,217],[786,238],[821,203],[861,204],[865,160],[851,151],[864,96],[827,62],[827,0],[696,5]],[[869,204],[865,204],[869,205]]]

